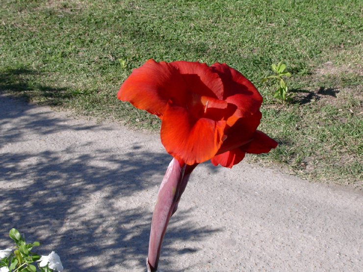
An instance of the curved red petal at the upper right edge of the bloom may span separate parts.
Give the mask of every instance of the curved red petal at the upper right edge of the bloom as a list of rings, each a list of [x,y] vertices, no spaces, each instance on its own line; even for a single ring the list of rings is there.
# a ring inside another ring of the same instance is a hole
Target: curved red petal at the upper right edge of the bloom
[[[250,80],[225,63],[215,63],[211,67],[222,79],[223,99],[235,105],[235,111],[227,120],[229,126],[232,126],[239,118],[258,111],[263,99]]]

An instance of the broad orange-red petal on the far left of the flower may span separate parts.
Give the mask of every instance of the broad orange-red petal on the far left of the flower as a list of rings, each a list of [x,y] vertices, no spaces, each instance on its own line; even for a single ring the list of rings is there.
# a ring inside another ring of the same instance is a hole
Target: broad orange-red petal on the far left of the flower
[[[122,84],[117,98],[130,101],[135,107],[160,117],[170,98],[185,103],[186,91],[185,82],[174,66],[149,59],[132,71]]]

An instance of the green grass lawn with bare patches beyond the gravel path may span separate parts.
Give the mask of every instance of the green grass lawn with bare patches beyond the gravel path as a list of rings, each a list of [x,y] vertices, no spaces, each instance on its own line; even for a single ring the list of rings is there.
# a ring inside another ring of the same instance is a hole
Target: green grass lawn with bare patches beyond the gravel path
[[[361,0],[2,0],[0,92],[155,130],[116,93],[149,58],[226,62],[264,97],[280,143],[252,161],[313,181],[363,185]],[[284,60],[283,105],[261,83]]]

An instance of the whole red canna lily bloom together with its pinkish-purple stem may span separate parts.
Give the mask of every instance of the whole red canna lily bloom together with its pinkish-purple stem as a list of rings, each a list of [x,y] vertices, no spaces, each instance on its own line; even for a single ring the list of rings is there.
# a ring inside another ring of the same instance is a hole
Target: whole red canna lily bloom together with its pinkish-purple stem
[[[156,271],[167,224],[193,169],[209,159],[232,168],[246,153],[269,152],[277,142],[257,130],[258,90],[225,63],[150,59],[132,71],[117,97],[162,120],[161,143],[174,157],[153,215],[148,266]]]

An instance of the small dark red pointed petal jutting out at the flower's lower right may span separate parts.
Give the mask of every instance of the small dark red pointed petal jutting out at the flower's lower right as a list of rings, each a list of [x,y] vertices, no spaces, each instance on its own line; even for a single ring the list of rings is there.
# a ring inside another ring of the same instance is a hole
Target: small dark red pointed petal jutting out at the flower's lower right
[[[277,147],[277,142],[275,140],[271,139],[262,131],[256,130],[254,134],[254,139],[248,144],[242,146],[241,150],[246,153],[260,154],[260,153],[267,153],[272,148],[276,147]]]

